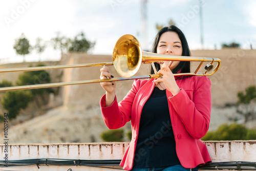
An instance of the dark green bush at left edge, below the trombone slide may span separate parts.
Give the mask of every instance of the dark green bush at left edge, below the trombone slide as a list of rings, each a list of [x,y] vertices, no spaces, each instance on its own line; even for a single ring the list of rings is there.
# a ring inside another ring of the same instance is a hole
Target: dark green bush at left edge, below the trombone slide
[[[29,102],[33,100],[32,94],[28,91],[5,92],[1,103],[8,111],[9,119],[15,118],[21,109],[26,109]]]

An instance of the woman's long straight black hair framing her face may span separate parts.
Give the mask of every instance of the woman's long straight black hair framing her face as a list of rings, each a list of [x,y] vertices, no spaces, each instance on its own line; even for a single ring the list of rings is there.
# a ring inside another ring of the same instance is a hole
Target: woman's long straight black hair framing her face
[[[182,45],[182,56],[190,56],[190,51],[189,51],[189,48],[188,48],[186,37],[183,34],[183,32],[176,26],[164,27],[161,30],[159,30],[159,32],[156,35],[154,44],[153,44],[152,52],[157,53],[157,46],[158,46],[160,36],[163,33],[168,32],[168,31],[169,32],[175,32],[175,33],[178,34],[178,36],[181,40],[181,45]],[[155,67],[156,67],[157,71],[160,70],[159,63],[155,62]],[[175,69],[173,69],[172,72],[175,74],[178,71],[181,71],[181,73],[189,73],[190,72],[190,61],[180,61],[179,65]],[[154,70],[153,70],[152,66],[151,66],[151,74],[154,74]]]

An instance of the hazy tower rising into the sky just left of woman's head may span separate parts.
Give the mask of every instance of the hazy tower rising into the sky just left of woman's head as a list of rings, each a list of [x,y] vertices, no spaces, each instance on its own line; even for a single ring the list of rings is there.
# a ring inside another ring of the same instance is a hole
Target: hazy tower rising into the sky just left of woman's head
[[[147,0],[141,0],[141,47],[143,51],[148,51],[147,40]]]

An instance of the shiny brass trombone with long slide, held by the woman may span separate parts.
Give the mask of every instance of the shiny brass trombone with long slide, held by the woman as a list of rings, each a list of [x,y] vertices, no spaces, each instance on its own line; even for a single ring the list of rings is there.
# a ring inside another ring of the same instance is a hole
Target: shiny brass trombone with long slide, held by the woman
[[[84,81],[72,81],[72,82],[57,82],[47,84],[33,84],[27,86],[14,86],[0,88],[0,92],[15,91],[15,90],[29,90],[29,89],[41,89],[51,88],[59,86],[70,86],[75,84],[86,84],[95,82],[111,82],[131,79],[147,79],[147,78],[158,78],[161,75],[156,73],[146,76],[134,76],[140,69],[141,63],[151,63],[153,68],[154,62],[163,61],[200,61],[194,73],[178,73],[179,75],[198,75],[198,76],[210,76],[217,72],[220,68],[221,60],[219,58],[205,58],[205,57],[193,57],[193,56],[173,56],[173,55],[162,55],[157,53],[142,51],[140,43],[136,37],[130,34],[121,36],[114,47],[112,54],[113,62],[102,62],[102,63],[87,63],[80,65],[62,65],[62,66],[43,66],[43,67],[28,67],[28,68],[14,68],[14,69],[2,69],[0,74],[4,72],[18,72],[18,71],[39,71],[39,70],[53,70],[53,69],[66,69],[66,68],[83,68],[83,67],[97,67],[97,66],[114,66],[117,73],[121,76],[120,78],[109,78],[109,79],[95,79],[95,80],[84,80]],[[205,66],[205,71],[198,73],[204,62],[209,62]],[[214,68],[213,63],[217,62]]]

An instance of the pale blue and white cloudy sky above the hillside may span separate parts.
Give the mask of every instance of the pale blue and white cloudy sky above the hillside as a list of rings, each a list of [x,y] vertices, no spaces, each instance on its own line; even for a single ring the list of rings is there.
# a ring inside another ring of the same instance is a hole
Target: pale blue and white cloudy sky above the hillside
[[[173,19],[185,34],[190,50],[221,49],[222,43],[236,41],[243,49],[256,49],[255,0],[201,0],[204,46],[200,41],[199,0],[147,0],[147,49],[157,34],[156,24],[168,25]],[[142,40],[141,2],[139,0],[12,0],[0,1],[0,63],[19,62],[23,57],[13,49],[22,33],[35,44],[37,37],[49,41],[61,35],[74,38],[83,31],[95,41],[90,54],[111,55],[115,43],[124,34]],[[41,60],[59,60],[60,51],[52,46]],[[32,51],[26,61],[36,61]]]

